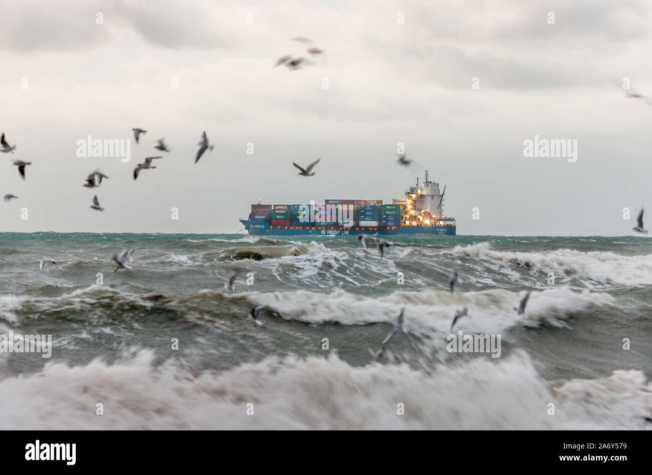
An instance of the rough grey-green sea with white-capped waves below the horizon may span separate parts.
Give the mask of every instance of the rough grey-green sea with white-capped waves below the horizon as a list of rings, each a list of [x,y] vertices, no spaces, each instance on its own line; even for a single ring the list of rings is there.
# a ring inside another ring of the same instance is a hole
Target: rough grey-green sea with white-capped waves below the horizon
[[[652,240],[390,239],[2,233],[0,429],[652,428]]]

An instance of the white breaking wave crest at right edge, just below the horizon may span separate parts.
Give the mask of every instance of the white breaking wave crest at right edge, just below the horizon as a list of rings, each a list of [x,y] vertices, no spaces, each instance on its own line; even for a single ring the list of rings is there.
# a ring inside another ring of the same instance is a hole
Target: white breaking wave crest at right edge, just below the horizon
[[[536,267],[557,276],[573,276],[602,284],[651,285],[652,254],[619,255],[614,252],[581,252],[559,249],[551,252],[507,252],[492,250],[488,242],[456,246],[442,255]]]

